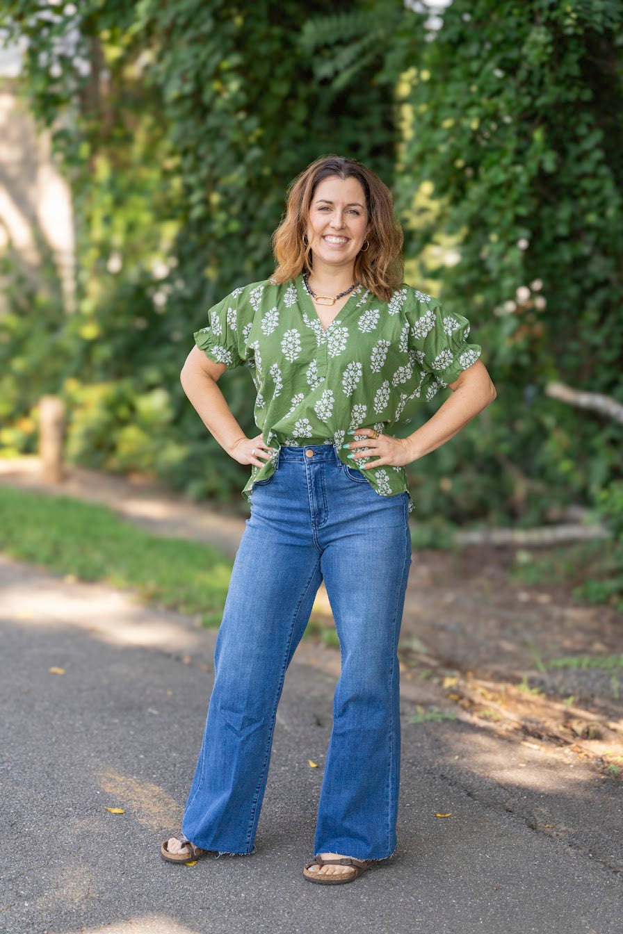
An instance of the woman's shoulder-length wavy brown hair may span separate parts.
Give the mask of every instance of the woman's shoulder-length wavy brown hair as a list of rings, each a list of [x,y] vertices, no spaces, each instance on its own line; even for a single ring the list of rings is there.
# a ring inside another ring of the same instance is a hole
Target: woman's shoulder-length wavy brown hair
[[[356,159],[323,156],[291,183],[284,217],[272,237],[277,266],[271,278],[274,282],[288,282],[304,271],[311,272],[312,251],[304,241],[309,207],[319,183],[333,176],[357,178],[361,183],[368,209],[370,246],[355,258],[355,279],[383,302],[389,302],[403,282],[403,229],[395,218],[387,185]]]

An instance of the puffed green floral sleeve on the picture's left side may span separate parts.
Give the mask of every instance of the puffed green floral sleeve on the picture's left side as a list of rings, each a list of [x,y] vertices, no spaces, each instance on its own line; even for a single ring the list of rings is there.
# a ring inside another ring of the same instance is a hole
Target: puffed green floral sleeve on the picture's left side
[[[252,313],[252,309],[245,301],[245,290],[234,290],[210,308],[207,313],[209,324],[193,335],[195,344],[206,357],[224,363],[228,370],[242,366],[248,358],[248,312]]]

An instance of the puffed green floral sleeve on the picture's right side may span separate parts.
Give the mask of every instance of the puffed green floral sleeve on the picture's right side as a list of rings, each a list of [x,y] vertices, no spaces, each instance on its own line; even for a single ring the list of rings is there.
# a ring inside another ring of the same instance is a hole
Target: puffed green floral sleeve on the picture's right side
[[[446,312],[443,304],[430,295],[415,292],[416,301],[407,308],[409,350],[418,367],[434,375],[438,383],[453,383],[463,370],[480,357],[481,347],[468,344],[470,322],[455,312]]]

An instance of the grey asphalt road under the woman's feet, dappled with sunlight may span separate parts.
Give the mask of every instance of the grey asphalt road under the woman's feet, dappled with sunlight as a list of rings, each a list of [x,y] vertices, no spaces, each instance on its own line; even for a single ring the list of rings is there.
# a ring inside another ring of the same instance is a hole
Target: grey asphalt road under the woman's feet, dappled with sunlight
[[[256,853],[164,863],[214,633],[4,559],[0,585],[2,934],[622,929],[621,785],[460,722],[409,723],[406,700],[395,856],[354,884],[306,882],[335,678],[296,657]]]

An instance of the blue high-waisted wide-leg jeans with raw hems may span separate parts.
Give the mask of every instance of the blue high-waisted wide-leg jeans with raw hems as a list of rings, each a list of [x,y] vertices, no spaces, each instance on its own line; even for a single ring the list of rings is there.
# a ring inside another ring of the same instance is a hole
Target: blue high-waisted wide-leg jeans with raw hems
[[[280,448],[275,473],[253,487],[234,561],[182,824],[189,840],[219,854],[254,852],[277,703],[324,581],[342,668],[314,855],[392,855],[400,785],[396,650],[410,565],[406,493],[380,496],[333,445]]]

